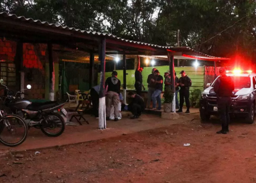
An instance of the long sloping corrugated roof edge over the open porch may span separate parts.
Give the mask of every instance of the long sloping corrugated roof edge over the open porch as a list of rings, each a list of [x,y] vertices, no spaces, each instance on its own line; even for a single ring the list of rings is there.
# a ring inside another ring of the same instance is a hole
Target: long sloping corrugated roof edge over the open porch
[[[61,26],[58,24],[50,24],[49,22],[42,22],[41,20],[34,20],[33,18],[26,18],[24,16],[18,17],[17,15],[14,15],[14,14],[9,15],[6,12],[0,12],[0,16],[4,17],[4,18],[12,18],[13,20],[20,20],[20,22],[29,22],[31,24],[38,24],[40,26],[51,27],[52,29],[63,29],[63,30],[72,31],[72,32],[75,31],[77,33],[90,34],[92,36],[106,36],[106,38],[113,38],[118,41],[124,41],[127,43],[133,43],[133,44],[137,44],[137,45],[145,45],[148,47],[160,48],[160,49],[165,49],[165,50],[169,49],[169,50],[172,50],[173,52],[184,52],[184,54],[186,54],[186,52],[189,52],[190,53],[189,55],[198,56],[198,57],[201,56],[201,57],[208,57],[211,59],[221,59],[221,60],[228,59],[228,58],[214,57],[212,55],[203,54],[203,53],[198,52],[189,47],[166,47],[166,46],[154,45],[154,44],[150,44],[150,43],[143,43],[140,41],[125,40],[122,38],[118,38],[117,36],[114,36],[113,34],[99,33],[99,32],[93,32],[93,31],[83,31],[81,29],[76,29],[74,27]]]

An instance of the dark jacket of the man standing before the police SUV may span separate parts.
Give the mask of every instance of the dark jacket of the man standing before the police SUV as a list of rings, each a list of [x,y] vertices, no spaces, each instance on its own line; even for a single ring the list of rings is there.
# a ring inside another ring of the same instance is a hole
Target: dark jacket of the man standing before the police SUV
[[[219,77],[214,84],[214,92],[217,96],[232,96],[232,92],[234,91],[234,81],[231,77],[227,77],[227,75],[223,75]]]

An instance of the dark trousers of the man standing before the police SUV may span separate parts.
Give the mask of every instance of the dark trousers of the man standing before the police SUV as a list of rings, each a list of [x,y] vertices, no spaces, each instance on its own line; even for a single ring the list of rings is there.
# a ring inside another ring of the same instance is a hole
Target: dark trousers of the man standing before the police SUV
[[[217,105],[222,127],[221,130],[227,131],[228,124],[230,123],[229,110],[231,106],[231,97],[219,97]]]

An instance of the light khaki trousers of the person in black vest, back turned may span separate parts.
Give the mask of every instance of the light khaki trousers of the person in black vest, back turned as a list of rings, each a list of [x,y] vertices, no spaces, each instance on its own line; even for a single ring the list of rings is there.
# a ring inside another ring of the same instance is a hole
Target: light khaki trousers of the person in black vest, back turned
[[[109,91],[107,94],[107,107],[106,107],[106,117],[110,117],[111,105],[115,108],[115,118],[118,118],[119,110],[119,95],[117,92]]]

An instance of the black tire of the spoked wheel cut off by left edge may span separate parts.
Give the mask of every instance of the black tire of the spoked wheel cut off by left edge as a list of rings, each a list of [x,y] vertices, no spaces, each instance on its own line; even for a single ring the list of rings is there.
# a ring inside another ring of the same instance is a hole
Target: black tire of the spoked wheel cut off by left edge
[[[21,143],[23,143],[26,140],[26,138],[28,136],[28,125],[26,124],[24,119],[19,117],[19,115],[15,115],[15,114],[7,114],[7,115],[5,115],[5,118],[8,118],[8,117],[19,119],[19,125],[20,126],[24,126],[24,134],[22,135],[22,138],[19,140],[19,142],[10,143],[10,142],[6,142],[3,139],[3,137],[1,136],[1,134],[3,133],[3,131],[6,128],[6,126],[4,125],[3,119],[1,119],[1,121],[0,121],[0,142],[3,143],[3,145],[9,146],[9,147],[15,147],[17,145],[20,145]],[[6,130],[8,130],[8,129],[6,129]]]

